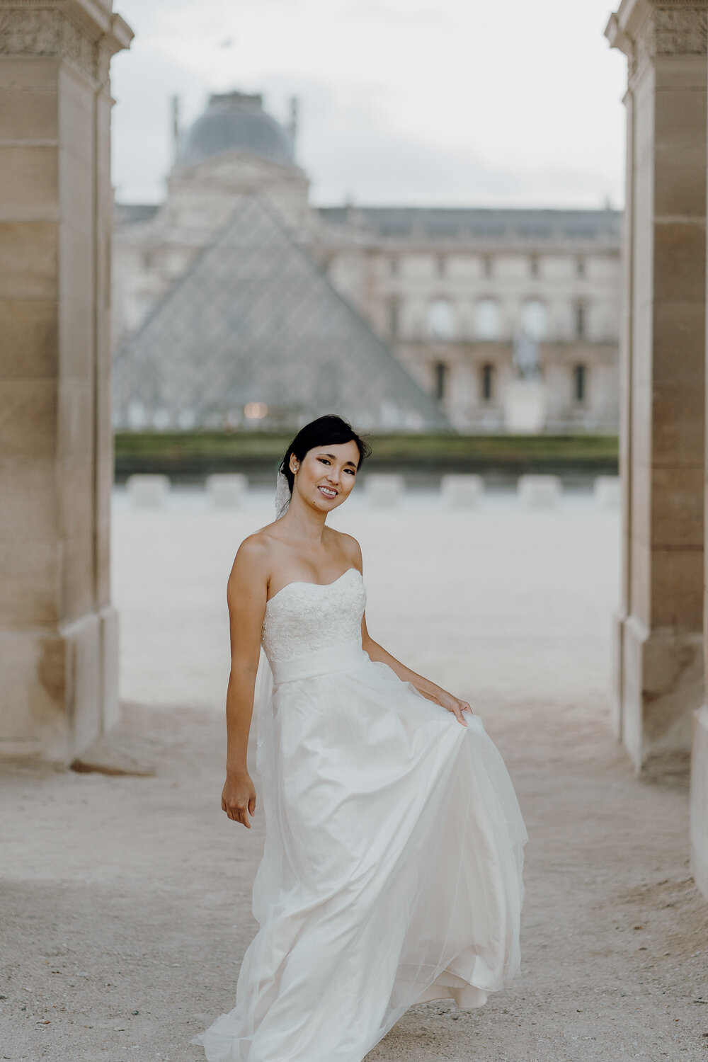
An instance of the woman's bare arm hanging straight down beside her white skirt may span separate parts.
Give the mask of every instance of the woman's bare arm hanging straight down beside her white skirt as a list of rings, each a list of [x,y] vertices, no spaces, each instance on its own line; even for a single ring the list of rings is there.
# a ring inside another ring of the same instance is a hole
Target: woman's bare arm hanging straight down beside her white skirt
[[[248,816],[256,811],[256,789],[248,774],[246,753],[266,594],[266,548],[252,535],[239,547],[226,592],[231,670],[226,691],[226,782],[221,798],[229,819],[248,828]]]

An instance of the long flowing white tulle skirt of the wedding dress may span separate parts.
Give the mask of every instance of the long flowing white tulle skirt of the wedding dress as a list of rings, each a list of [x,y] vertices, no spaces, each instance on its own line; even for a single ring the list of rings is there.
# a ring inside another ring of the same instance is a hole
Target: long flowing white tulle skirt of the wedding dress
[[[528,834],[479,716],[361,643],[274,665],[260,721],[259,931],[208,1062],[361,1062],[416,1003],[482,1006],[519,972]]]

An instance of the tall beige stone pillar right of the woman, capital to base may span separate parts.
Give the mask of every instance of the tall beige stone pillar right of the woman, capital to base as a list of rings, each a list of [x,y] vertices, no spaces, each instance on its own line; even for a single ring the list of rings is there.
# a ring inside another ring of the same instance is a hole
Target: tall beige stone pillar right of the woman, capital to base
[[[616,727],[638,771],[686,759],[703,675],[708,0],[622,0],[628,57]]]

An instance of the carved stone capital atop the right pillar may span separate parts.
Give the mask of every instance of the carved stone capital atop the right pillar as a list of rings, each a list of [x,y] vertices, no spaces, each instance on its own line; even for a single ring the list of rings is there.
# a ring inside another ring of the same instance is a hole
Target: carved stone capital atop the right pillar
[[[708,0],[622,0],[605,36],[627,56],[632,82],[658,55],[705,55]]]

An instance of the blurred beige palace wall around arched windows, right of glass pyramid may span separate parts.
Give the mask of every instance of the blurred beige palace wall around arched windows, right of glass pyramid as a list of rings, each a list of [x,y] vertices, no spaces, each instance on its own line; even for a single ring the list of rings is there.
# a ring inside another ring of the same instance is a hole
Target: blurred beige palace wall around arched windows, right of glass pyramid
[[[347,238],[344,234],[342,239]],[[447,365],[443,407],[460,430],[502,427],[504,392],[514,379],[512,340],[522,327],[524,304],[531,301],[539,302],[546,312],[539,363],[547,426],[551,430],[617,429],[619,249],[598,251],[579,241],[565,252],[540,246],[515,252],[500,240],[481,254],[471,245],[451,251],[432,241],[416,251],[407,250],[403,243],[376,247],[369,237],[365,247],[336,251],[331,240],[330,234],[328,241],[314,241],[313,254],[327,262],[334,287],[369,321],[418,382],[434,393],[435,363]],[[485,259],[491,262],[489,274]],[[430,333],[431,304],[436,299],[450,307],[452,335],[447,341]],[[480,335],[478,304],[482,299],[493,299],[498,306],[500,330],[494,342]],[[582,340],[576,336],[579,303],[584,306]],[[496,393],[489,401],[480,392],[485,363],[496,371]],[[579,363],[587,373],[586,396],[580,402],[573,397],[573,366]]]

